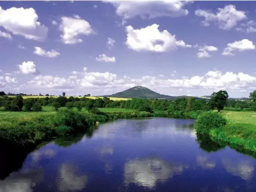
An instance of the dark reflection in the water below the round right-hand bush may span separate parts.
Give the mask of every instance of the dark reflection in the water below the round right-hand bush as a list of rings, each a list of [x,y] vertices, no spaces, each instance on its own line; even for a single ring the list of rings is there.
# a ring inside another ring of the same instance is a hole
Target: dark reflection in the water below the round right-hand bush
[[[196,134],[196,142],[202,150],[207,152],[218,151],[226,146],[220,145],[219,143],[212,141],[208,135],[202,134]]]

